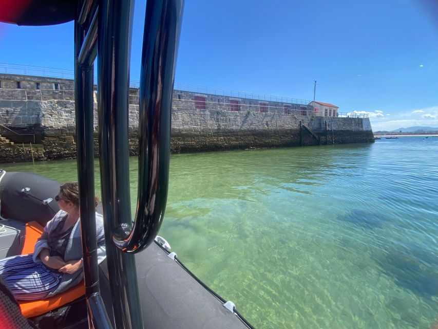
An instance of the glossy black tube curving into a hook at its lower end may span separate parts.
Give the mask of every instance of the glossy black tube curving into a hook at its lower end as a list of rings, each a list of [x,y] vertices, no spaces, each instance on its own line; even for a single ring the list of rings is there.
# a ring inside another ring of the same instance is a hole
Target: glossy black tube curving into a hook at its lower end
[[[143,35],[139,106],[137,211],[130,231],[119,226],[113,241],[135,253],[154,241],[167,201],[170,112],[183,0],[149,0]]]

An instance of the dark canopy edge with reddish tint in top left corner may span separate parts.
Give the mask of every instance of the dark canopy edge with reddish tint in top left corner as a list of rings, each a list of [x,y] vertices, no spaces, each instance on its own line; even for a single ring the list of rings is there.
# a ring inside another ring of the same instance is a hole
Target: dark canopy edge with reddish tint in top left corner
[[[0,22],[17,25],[55,25],[74,20],[78,0],[0,1]]]

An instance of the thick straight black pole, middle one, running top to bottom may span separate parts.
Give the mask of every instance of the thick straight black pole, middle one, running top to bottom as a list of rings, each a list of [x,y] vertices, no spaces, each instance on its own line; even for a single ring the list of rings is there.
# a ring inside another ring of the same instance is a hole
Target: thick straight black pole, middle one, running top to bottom
[[[134,254],[112,229],[131,226],[128,162],[129,57],[134,1],[103,0],[98,16],[98,98],[102,205],[112,306],[118,329],[143,328]]]

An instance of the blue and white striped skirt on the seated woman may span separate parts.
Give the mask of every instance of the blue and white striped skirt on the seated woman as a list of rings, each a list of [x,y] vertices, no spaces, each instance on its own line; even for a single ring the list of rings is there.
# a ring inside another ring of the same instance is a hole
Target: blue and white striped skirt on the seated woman
[[[55,290],[62,275],[35,263],[32,254],[17,255],[0,260],[0,275],[7,282],[16,300],[43,299]]]

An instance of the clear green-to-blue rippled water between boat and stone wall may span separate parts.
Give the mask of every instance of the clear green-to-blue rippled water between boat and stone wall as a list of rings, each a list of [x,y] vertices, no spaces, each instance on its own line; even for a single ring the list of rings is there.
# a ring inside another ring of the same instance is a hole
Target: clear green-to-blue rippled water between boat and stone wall
[[[160,235],[257,328],[430,329],[437,165],[432,137],[173,155]],[[71,160],[0,167],[76,175]]]

